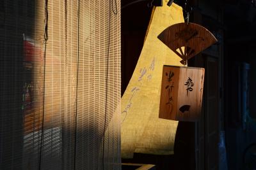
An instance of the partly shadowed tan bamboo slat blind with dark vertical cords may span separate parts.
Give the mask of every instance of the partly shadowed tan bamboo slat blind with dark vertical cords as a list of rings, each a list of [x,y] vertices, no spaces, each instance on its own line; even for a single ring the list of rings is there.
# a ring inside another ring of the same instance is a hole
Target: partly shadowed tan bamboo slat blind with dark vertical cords
[[[120,1],[0,8],[0,169],[121,169]]]

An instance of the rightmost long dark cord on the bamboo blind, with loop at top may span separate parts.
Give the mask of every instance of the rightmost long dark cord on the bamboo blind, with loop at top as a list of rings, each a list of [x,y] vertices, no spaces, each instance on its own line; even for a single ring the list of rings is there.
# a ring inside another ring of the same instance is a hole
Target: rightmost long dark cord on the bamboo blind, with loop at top
[[[111,3],[110,3],[111,1]],[[115,1],[115,9],[116,11],[113,10],[113,1]],[[104,131],[103,131],[103,143],[102,143],[102,169],[104,170],[104,148],[105,148],[105,131],[106,131],[106,121],[107,121],[107,103],[108,103],[108,71],[109,71],[109,46],[110,46],[110,26],[111,26],[111,13],[110,13],[110,4],[112,4],[112,11],[114,15],[117,15],[117,5],[116,5],[116,0],[109,0],[109,20],[108,20],[108,58],[107,58],[107,72],[106,72],[106,94],[105,94],[105,115],[104,115]]]

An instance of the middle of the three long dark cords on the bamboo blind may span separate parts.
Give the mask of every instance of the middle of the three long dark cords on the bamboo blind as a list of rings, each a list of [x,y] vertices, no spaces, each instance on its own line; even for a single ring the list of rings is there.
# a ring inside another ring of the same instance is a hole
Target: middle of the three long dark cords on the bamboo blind
[[[74,143],[74,170],[76,170],[76,140],[77,140],[77,93],[78,93],[78,70],[79,70],[79,21],[80,21],[80,0],[78,0],[77,11],[77,67],[76,67],[76,115],[75,115],[75,143]]]

